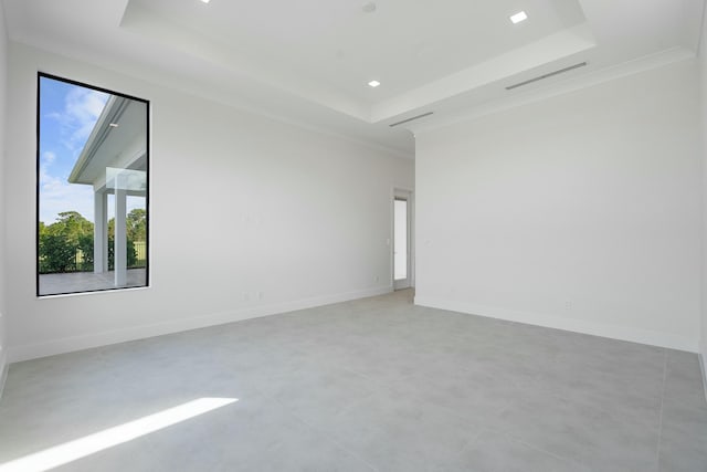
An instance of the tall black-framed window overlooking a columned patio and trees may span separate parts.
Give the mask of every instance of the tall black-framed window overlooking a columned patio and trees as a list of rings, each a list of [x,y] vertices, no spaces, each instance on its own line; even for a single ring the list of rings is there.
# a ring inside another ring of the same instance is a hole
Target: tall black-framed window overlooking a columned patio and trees
[[[149,102],[38,83],[38,295],[147,286]]]

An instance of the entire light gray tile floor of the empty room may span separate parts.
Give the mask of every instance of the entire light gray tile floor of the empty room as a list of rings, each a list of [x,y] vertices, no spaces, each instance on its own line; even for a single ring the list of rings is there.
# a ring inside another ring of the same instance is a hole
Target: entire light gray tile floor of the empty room
[[[56,455],[202,398],[238,401]],[[707,471],[707,402],[694,354],[403,291],[13,364],[0,471],[48,457],[66,471]]]

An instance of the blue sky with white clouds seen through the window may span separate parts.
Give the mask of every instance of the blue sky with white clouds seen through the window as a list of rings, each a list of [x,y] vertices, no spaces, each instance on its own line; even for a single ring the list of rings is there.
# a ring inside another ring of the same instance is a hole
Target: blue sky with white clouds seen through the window
[[[48,77],[40,78],[40,221],[62,211],[93,221],[93,188],[68,183],[68,175],[109,95]]]

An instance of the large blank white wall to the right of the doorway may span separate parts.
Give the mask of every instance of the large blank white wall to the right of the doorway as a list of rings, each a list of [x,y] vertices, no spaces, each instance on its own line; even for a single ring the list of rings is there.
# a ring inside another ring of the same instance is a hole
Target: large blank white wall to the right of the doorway
[[[418,134],[415,302],[696,352],[697,90],[687,61]]]

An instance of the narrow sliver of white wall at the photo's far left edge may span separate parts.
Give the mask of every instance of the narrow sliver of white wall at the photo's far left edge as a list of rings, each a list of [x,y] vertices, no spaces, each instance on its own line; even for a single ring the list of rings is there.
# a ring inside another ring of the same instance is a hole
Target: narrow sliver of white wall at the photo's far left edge
[[[7,376],[6,343],[6,291],[4,291],[4,126],[6,97],[8,83],[8,33],[4,23],[4,11],[0,3],[0,396]]]

